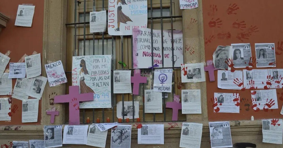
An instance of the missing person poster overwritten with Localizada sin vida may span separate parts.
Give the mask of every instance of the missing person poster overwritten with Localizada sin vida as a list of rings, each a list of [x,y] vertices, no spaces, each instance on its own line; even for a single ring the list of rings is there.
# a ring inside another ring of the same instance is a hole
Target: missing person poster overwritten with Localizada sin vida
[[[118,125],[111,131],[111,148],[131,148],[132,125]]]

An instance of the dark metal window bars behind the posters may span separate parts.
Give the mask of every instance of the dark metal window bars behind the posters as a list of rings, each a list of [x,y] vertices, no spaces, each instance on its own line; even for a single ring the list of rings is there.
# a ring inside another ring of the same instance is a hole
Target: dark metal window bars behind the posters
[[[93,0],[93,11],[96,11],[95,10],[95,1],[96,0]],[[104,1],[105,0],[102,0],[102,10],[105,10],[105,7],[104,7]],[[148,0],[149,1],[149,0]],[[78,22],[77,23],[77,5],[79,6],[79,4],[81,4],[83,2],[83,14],[84,14],[84,22]],[[172,15],[172,12],[173,12],[173,7],[172,7],[172,0],[170,0],[170,16],[162,16],[162,0],[160,0],[160,17],[153,17],[153,0],[150,0],[150,17],[148,17],[148,20],[150,20],[150,24],[151,24],[151,33],[153,33],[153,20],[156,20],[156,19],[160,19],[160,24],[161,24],[161,41],[162,41],[162,47],[161,49],[163,49],[163,19],[171,19],[170,20],[170,23],[171,23],[171,40],[172,40],[172,47],[171,49],[174,49],[174,44],[173,44],[173,18],[182,18],[182,16],[173,16]],[[86,41],[86,35],[93,35],[93,44],[95,43],[95,33],[93,34],[86,34],[86,24],[89,24],[89,21],[86,21],[86,0],[82,0],[82,1],[78,1],[78,0],[74,0],[74,23],[68,23],[66,24],[67,26],[68,25],[74,25],[74,51],[73,51],[73,56],[78,56],[78,49],[77,49],[77,36],[82,36],[82,35],[77,35],[77,25],[80,25],[80,24],[83,24],[83,55],[85,55],[85,41]],[[104,32],[102,32],[102,54],[104,54]],[[132,42],[133,42],[133,37],[132,36],[126,36],[126,37],[131,37],[131,51],[133,50],[133,45],[132,45]],[[117,121],[117,118],[114,114],[114,103],[116,103],[115,99],[116,98],[116,95],[117,94],[113,94],[113,70],[134,70],[133,69],[133,61],[131,59],[131,62],[132,62],[132,68],[131,69],[124,69],[124,67],[122,66],[122,69],[115,69],[114,67],[114,62],[113,62],[113,57],[115,56],[114,55],[114,36],[111,37],[112,39],[112,69],[111,69],[111,89],[112,89],[112,93],[111,93],[111,103],[112,103],[112,122],[115,122]],[[151,36],[151,52],[152,52],[152,55],[153,55],[153,36]],[[121,61],[123,62],[123,59],[124,59],[124,53],[123,53],[123,36],[121,36],[121,50],[120,50],[120,53],[121,53]],[[172,55],[174,55],[174,50],[171,50],[172,51]],[[95,53],[95,46],[93,46],[93,54]],[[162,69],[164,68],[164,53],[163,53],[163,50],[162,50],[162,67],[156,67],[155,69]],[[131,52],[131,57],[133,57],[133,54]],[[154,60],[153,60],[153,56],[152,56],[152,65],[154,65]],[[166,68],[173,68],[173,82],[172,82],[172,98],[173,98],[173,95],[175,94],[175,83],[174,83],[174,72],[175,70],[178,70],[180,69],[180,67],[174,67],[174,60],[172,60],[172,67],[166,67]],[[141,69],[141,70],[151,70],[151,69]],[[71,73],[71,72],[66,72],[66,73]],[[152,76],[152,81],[151,83],[153,84],[153,78],[154,78],[154,74],[153,74],[153,70],[151,70],[151,76]],[[153,85],[151,85],[151,89],[153,89]],[[144,90],[145,90],[145,84],[143,83],[142,84],[142,95],[144,95]],[[124,95],[125,94],[121,94],[122,95],[122,112],[124,112]],[[166,120],[166,93],[162,92],[162,104],[163,104],[163,114],[164,114],[164,120],[163,122],[168,122],[170,120]],[[132,105],[133,105],[133,112],[135,112],[135,106],[134,106],[134,100],[135,100],[135,96],[133,95],[132,96]],[[144,102],[144,98],[143,98],[143,102]],[[139,108],[138,108],[139,109]],[[85,124],[85,109],[80,109],[83,111],[82,113],[82,123]],[[132,119],[132,122],[135,122],[135,118],[134,118],[134,114],[133,114],[133,119]],[[95,121],[95,109],[92,109],[92,117],[93,117],[93,123],[96,123]],[[116,119],[116,120],[115,120]],[[179,120],[179,121],[185,121],[185,120]],[[102,122],[104,122],[104,108],[102,108]],[[123,120],[122,122],[124,123],[125,122],[125,116],[123,114]],[[153,121],[146,121],[145,120],[145,107],[144,107],[144,104],[143,104],[143,122],[156,122],[156,114],[153,113]],[[162,121],[158,121],[158,122],[162,122]]]

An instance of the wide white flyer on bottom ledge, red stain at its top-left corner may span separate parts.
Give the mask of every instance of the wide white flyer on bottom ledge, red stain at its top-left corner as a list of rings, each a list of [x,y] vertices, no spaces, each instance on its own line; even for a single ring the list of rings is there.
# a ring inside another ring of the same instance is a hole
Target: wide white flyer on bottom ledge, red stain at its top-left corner
[[[164,124],[143,124],[138,129],[138,144],[164,144]]]

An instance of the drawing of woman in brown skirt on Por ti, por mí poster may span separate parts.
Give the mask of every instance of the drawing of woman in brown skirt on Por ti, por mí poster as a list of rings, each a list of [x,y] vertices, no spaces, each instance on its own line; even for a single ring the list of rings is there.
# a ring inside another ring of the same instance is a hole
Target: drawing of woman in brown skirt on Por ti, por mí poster
[[[81,90],[81,94],[88,93],[88,92],[94,93],[94,91],[89,86],[87,86],[85,84],[85,77],[84,76],[88,75],[89,73],[87,71],[87,67],[85,65],[84,59],[81,60],[80,67],[82,67],[81,70],[80,70],[80,77],[81,77],[80,78],[80,90]]]

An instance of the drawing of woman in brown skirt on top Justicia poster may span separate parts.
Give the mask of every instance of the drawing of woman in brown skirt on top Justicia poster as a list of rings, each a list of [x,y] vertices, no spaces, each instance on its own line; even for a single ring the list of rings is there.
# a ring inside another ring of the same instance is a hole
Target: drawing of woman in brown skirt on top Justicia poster
[[[126,3],[125,0],[118,0],[117,1],[117,5],[118,5],[118,8],[117,8],[117,23],[118,23],[118,28],[115,29],[115,31],[120,31],[120,23],[124,23],[124,24],[127,24],[128,21],[131,21],[133,22],[130,17],[126,16],[123,12],[122,12],[122,5],[128,5]]]

